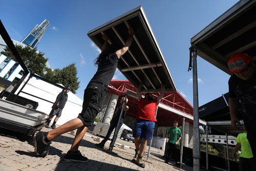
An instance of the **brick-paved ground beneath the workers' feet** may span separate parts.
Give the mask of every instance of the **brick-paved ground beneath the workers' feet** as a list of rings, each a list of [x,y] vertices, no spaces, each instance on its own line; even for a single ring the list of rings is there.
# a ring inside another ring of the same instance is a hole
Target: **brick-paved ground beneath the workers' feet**
[[[42,131],[47,130],[50,129],[42,129]],[[131,162],[135,154],[134,144],[121,139],[117,139],[113,153],[107,149],[109,142],[105,144],[104,149],[97,148],[94,144],[98,143],[95,141],[98,137],[87,133],[79,150],[90,160],[81,164],[63,160],[63,155],[69,150],[74,135],[66,133],[55,138],[49,155],[45,158],[35,156],[32,138],[22,141],[12,136],[0,135],[0,170],[180,170],[174,166],[174,162],[164,163],[162,159],[164,152],[158,148],[151,148],[147,160],[147,154],[144,156],[145,168],[137,166]],[[124,145],[124,149],[121,148],[121,144]],[[185,165],[181,170],[193,170],[193,168]]]

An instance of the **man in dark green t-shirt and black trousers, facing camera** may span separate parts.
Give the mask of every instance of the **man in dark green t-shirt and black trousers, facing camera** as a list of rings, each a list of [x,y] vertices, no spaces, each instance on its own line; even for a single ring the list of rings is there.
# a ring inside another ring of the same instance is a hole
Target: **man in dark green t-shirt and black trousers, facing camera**
[[[182,135],[180,129],[178,128],[178,122],[174,121],[174,126],[169,128],[166,135],[166,141],[168,143],[167,153],[164,161],[165,163],[168,163],[170,158],[173,156],[173,159],[176,161],[176,165],[179,166],[178,161],[180,161],[179,154],[181,137]]]

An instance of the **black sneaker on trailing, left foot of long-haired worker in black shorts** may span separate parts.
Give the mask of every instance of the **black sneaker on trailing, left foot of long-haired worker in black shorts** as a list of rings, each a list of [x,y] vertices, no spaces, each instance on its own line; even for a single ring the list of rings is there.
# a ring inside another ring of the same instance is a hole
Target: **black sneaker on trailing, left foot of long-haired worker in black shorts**
[[[49,153],[49,146],[52,143],[46,142],[47,132],[37,131],[34,134],[33,141],[35,146],[35,154],[38,157],[46,157]]]

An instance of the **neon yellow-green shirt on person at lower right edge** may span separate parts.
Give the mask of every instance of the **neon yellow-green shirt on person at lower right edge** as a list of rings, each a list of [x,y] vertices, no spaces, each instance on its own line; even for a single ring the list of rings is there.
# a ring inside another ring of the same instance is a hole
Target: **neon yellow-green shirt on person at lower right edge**
[[[244,158],[252,158],[251,146],[246,138],[247,133],[240,133],[238,134],[236,141],[241,144],[241,154],[240,157]]]

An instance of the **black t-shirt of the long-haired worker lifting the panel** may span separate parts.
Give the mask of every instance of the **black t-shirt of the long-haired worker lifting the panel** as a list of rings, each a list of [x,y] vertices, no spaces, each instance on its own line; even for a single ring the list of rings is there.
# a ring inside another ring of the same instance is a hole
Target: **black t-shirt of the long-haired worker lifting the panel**
[[[100,81],[109,84],[113,78],[117,68],[118,57],[116,53],[112,53],[105,58],[98,65],[98,70],[94,74],[92,81]]]

